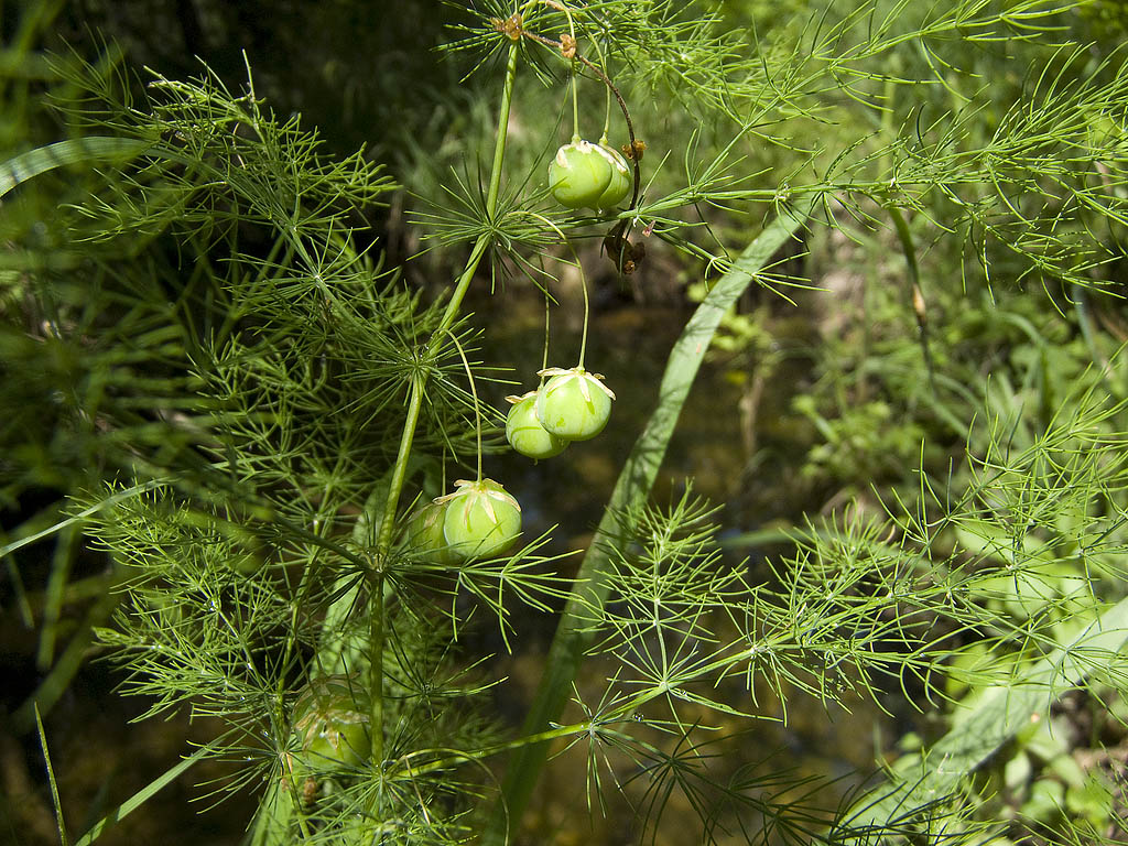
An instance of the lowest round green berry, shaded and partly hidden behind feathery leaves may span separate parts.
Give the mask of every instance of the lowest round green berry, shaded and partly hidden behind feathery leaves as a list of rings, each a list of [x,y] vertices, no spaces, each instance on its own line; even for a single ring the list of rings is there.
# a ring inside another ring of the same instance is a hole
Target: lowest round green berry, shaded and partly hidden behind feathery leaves
[[[296,774],[355,767],[371,754],[369,698],[356,677],[326,676],[309,682],[293,706],[300,751]]]

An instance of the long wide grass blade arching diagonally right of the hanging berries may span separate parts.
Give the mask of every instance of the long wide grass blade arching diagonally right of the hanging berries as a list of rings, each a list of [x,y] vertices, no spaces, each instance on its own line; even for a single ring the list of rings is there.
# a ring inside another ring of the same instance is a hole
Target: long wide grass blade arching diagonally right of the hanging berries
[[[721,318],[757,279],[775,252],[803,226],[817,202],[818,196],[812,196],[804,205],[781,215],[767,227],[733,263],[732,270],[717,280],[675,343],[659,388],[658,407],[619,474],[603,519],[576,574],[576,588],[556,627],[545,675],[525,721],[526,734],[550,728],[564,711],[580,660],[591,641],[591,635],[585,634],[583,627],[591,619],[591,610],[607,600],[608,589],[601,574],[609,561],[608,546],[629,534],[631,527],[622,525],[623,514],[650,496],[681,407]],[[515,830],[547,755],[548,744],[545,742],[519,747],[513,752],[501,799],[493,809],[482,840],[483,846],[500,846],[506,841],[506,831],[512,834]]]

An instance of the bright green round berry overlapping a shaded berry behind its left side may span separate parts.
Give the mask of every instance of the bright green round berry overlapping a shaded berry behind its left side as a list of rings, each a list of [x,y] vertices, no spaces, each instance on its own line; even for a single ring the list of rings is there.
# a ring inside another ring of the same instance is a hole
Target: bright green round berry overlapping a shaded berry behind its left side
[[[461,558],[488,558],[521,534],[521,506],[493,479],[459,479],[447,501],[442,532]]]

